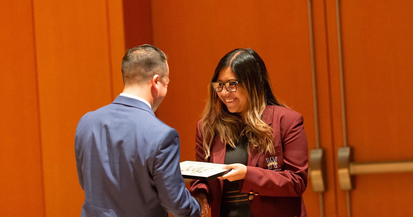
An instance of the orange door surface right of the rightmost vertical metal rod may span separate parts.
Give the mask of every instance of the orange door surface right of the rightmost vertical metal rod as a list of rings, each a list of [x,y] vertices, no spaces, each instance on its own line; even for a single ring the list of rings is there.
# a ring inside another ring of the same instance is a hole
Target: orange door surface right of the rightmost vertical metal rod
[[[347,145],[354,161],[412,160],[413,5],[399,0],[339,6]],[[411,216],[411,205],[411,172],[354,177],[352,216]]]

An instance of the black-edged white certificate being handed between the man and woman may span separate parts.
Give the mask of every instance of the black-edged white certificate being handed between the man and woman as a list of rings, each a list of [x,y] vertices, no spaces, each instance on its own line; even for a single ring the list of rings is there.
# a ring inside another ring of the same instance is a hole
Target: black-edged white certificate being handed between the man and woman
[[[231,169],[223,169],[226,164],[207,163],[185,160],[179,163],[182,176],[185,179],[199,179],[208,181],[227,174]]]

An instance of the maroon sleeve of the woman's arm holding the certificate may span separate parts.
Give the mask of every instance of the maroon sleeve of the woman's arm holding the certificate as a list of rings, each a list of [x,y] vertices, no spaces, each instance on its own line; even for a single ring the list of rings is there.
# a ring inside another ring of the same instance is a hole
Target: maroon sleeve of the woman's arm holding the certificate
[[[284,170],[275,172],[247,166],[242,193],[262,196],[297,197],[307,186],[308,144],[303,117],[299,114],[282,139]],[[282,130],[283,131],[283,130]]]

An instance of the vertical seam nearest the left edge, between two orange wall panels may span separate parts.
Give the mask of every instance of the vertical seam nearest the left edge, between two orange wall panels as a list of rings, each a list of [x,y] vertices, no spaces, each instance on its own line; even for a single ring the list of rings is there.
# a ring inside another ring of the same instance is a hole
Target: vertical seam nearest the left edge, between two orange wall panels
[[[46,217],[46,196],[45,196],[45,177],[43,167],[43,146],[42,146],[42,128],[40,121],[40,90],[39,90],[39,75],[37,68],[37,49],[36,49],[36,27],[34,16],[34,0],[31,1],[31,16],[33,28],[33,48],[34,48],[34,73],[36,77],[36,96],[37,96],[37,115],[39,129],[39,149],[40,149],[40,175],[42,177],[42,198],[43,198],[43,216]]]

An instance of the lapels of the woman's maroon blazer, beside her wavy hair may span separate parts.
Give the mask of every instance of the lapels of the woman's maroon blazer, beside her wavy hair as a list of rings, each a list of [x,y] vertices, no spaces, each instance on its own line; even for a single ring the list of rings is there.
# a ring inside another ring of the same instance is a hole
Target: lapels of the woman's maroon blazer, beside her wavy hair
[[[273,120],[273,107],[272,106],[266,106],[266,108],[263,111],[262,114],[262,120],[264,123],[268,124],[271,126],[272,120]],[[214,148],[212,150],[212,162],[214,163],[225,163],[225,152],[226,152],[226,144],[224,144],[219,137],[214,138]],[[255,167],[258,158],[261,155],[259,151],[255,150],[252,148],[252,146],[249,147],[249,155],[248,155],[248,166],[253,166]]]

